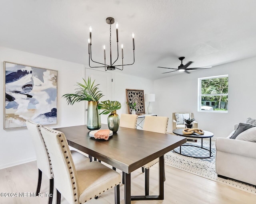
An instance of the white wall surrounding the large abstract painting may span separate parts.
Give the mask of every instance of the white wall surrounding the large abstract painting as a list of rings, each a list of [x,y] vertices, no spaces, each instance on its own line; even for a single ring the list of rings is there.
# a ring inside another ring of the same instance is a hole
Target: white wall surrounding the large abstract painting
[[[58,125],[51,126],[51,128],[84,124],[84,103],[68,106],[66,101],[61,98],[63,94],[74,92],[74,84],[85,75],[83,65],[0,47],[1,96],[4,96],[3,61],[58,70]],[[36,159],[34,147],[26,128],[4,130],[3,102],[4,100],[0,100],[0,169]]]

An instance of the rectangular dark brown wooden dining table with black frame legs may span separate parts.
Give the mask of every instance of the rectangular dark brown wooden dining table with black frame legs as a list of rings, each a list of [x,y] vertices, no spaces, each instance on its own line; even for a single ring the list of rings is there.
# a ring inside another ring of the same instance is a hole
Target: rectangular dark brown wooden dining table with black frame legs
[[[102,124],[100,129],[108,129]],[[68,144],[124,173],[124,203],[131,200],[164,200],[164,154],[186,143],[186,137],[119,127],[108,140],[89,135],[86,125],[55,128]],[[131,173],[159,158],[159,194],[131,195]]]

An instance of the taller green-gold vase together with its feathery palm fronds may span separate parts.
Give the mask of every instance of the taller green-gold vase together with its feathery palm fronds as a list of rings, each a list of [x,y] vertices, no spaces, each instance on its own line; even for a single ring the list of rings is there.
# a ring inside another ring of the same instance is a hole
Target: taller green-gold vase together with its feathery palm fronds
[[[90,130],[100,129],[101,122],[100,122],[100,115],[98,112],[98,102],[102,96],[104,96],[100,91],[98,90],[98,85],[94,85],[95,80],[92,82],[91,78],[88,77],[88,80],[86,81],[84,78],[84,84],[78,83],[78,86],[75,90],[76,92],[74,94],[64,94],[62,97],[66,98],[66,101],[68,104],[73,105],[76,102],[88,101],[88,108],[87,108],[87,122],[86,126]]]

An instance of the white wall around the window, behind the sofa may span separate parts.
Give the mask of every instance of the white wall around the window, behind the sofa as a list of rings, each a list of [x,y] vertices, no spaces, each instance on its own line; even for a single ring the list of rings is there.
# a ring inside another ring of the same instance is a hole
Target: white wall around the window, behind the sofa
[[[198,78],[228,75],[228,113],[198,112]],[[155,110],[168,116],[168,131],[172,131],[172,112],[193,112],[198,128],[227,137],[234,124],[256,118],[256,57],[228,63],[211,69],[181,73],[154,80]]]

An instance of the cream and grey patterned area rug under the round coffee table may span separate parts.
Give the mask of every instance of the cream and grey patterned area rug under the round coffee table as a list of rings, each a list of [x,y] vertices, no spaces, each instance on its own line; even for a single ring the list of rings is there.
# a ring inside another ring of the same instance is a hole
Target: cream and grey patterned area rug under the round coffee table
[[[201,140],[199,140],[197,143],[193,141],[188,141],[187,144],[201,146]],[[203,147],[209,149],[209,145],[210,145],[210,142],[208,140],[205,140],[203,142]],[[182,147],[182,153],[186,152],[187,154],[190,154],[190,155],[195,155],[195,151],[198,151],[196,155],[204,155],[205,153],[203,151],[206,151],[198,147],[187,146],[186,150],[184,149],[184,152],[183,152],[184,147]],[[192,149],[188,149],[188,148],[192,148]],[[180,147],[177,147],[176,150],[180,151]],[[256,195],[256,188],[250,184],[246,184],[244,182],[240,182],[234,179],[219,178],[216,174],[216,169],[215,169],[216,148],[215,148],[214,140],[212,140],[212,152],[214,153],[214,155],[208,159],[196,159],[196,158],[180,155],[178,153],[175,153],[174,151],[170,151],[165,154],[164,161],[166,165],[174,167],[176,169],[180,169],[182,171],[186,171],[194,175],[204,177],[206,179],[214,180],[216,182],[219,182],[234,188],[238,188],[245,192],[249,192],[251,194]],[[209,154],[208,151],[207,151],[207,154]]]

